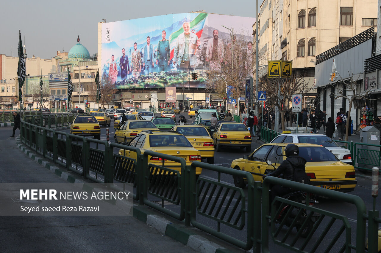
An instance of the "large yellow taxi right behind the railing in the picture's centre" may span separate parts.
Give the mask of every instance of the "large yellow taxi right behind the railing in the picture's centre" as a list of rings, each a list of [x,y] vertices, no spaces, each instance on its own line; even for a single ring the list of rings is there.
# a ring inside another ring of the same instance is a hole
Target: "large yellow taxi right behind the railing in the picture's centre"
[[[201,161],[201,153],[192,147],[184,135],[176,131],[142,131],[136,135],[129,146],[137,147],[143,154],[146,150],[157,153],[181,157],[190,166],[193,161]],[[136,159],[136,152],[120,149],[119,155]],[[148,156],[148,164],[164,166],[181,172],[181,165],[175,161],[164,160],[160,157]],[[196,168],[196,175],[200,175],[202,168]]]

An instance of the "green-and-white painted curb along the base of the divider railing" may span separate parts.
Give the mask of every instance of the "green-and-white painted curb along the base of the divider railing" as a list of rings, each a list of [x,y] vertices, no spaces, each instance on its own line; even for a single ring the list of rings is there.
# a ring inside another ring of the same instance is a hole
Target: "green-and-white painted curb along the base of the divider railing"
[[[58,128],[57,128],[58,130]],[[16,138],[16,146],[29,158],[41,164],[44,168],[49,169],[53,174],[61,177],[67,182],[72,183],[74,186],[86,190],[97,192],[100,185],[96,185],[94,182],[87,182],[82,179],[82,177],[70,173],[66,169],[61,169],[52,161],[44,160],[42,157],[39,157],[34,151],[27,149],[21,141],[20,138]],[[158,232],[162,233],[165,236],[171,237],[172,239],[181,242],[189,248],[201,253],[228,253],[228,252],[253,252],[243,251],[240,248],[235,247],[231,244],[226,244],[226,247],[223,247],[211,240],[206,239],[204,236],[200,235],[203,233],[197,228],[186,227],[181,221],[174,220],[170,221],[167,218],[164,218],[164,215],[154,209],[151,209],[147,206],[139,206],[136,204],[131,205],[131,203],[126,201],[117,200],[114,205],[119,209],[125,211],[126,213],[132,214],[139,221],[150,225],[152,228],[156,229]],[[216,237],[213,239],[220,240]],[[221,244],[224,242],[221,241]]]

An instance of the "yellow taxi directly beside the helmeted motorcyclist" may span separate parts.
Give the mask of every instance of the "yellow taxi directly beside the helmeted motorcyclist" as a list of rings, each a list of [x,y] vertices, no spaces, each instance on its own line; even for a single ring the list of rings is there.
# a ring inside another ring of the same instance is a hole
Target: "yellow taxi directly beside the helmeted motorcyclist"
[[[263,182],[262,176],[274,171],[285,159],[284,150],[287,144],[264,144],[250,155],[233,160],[230,167],[248,171],[255,181]],[[306,174],[311,177],[311,185],[342,192],[354,190],[357,180],[352,165],[343,163],[323,146],[307,143],[294,144],[299,147],[299,156],[307,160]],[[245,187],[245,180],[242,177],[233,177],[233,179],[237,187]]]

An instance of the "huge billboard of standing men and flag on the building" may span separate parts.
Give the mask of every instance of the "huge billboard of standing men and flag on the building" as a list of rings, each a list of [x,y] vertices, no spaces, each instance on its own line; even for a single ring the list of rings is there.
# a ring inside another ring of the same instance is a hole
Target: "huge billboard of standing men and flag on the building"
[[[205,87],[206,75],[202,71],[215,68],[213,63],[227,59],[231,30],[234,29],[240,40],[253,41],[254,23],[252,17],[209,13],[168,14],[104,23],[101,78],[115,83],[118,89],[182,87],[183,84],[189,88]],[[197,80],[192,79],[194,72],[198,73]]]

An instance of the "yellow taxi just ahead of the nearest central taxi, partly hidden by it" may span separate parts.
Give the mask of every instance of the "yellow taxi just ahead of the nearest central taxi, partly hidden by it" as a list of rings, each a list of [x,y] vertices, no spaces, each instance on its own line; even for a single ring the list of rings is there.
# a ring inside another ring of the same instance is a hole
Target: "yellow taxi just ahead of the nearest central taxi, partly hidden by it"
[[[207,158],[208,163],[214,163],[215,146],[213,139],[203,126],[197,125],[176,125],[171,130],[183,134],[192,146],[201,152],[201,158]]]

